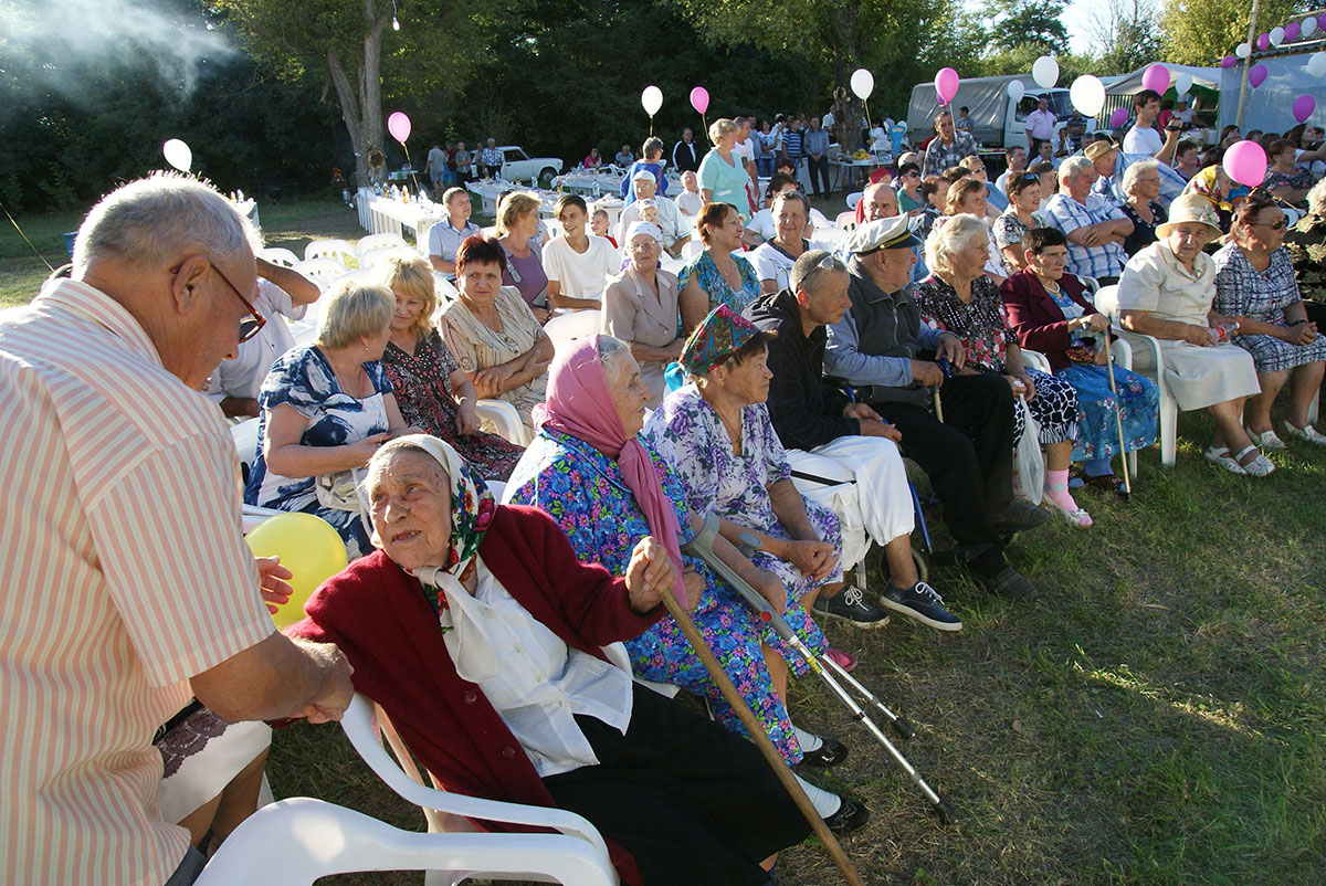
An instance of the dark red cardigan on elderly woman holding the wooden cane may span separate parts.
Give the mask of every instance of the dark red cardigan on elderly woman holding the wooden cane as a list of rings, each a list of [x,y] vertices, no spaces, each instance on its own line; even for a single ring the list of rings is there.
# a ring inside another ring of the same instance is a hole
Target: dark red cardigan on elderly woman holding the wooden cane
[[[663,615],[662,606],[631,611],[625,580],[578,562],[561,527],[537,508],[499,507],[479,553],[534,618],[601,659],[602,646],[638,637]],[[305,611],[289,633],[339,646],[355,690],[382,706],[446,789],[554,805],[483,690],[456,674],[418,578],[378,550],[322,584]],[[639,883],[630,853],[611,841],[609,850],[622,879]]]

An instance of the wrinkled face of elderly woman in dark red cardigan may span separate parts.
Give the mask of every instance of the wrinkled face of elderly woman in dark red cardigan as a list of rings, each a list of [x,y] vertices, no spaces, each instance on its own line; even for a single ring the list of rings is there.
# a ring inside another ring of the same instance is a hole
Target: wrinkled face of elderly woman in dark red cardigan
[[[424,452],[395,450],[369,470],[373,532],[403,569],[444,566],[451,550],[451,480]]]

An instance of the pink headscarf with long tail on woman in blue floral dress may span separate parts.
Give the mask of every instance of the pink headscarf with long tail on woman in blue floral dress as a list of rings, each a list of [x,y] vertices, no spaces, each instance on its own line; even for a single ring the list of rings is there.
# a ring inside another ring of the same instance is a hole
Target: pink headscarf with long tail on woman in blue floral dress
[[[553,359],[548,378],[548,402],[536,419],[589,443],[610,459],[617,459],[626,488],[635,496],[635,503],[648,520],[650,535],[663,545],[676,566],[672,592],[683,606],[688,605],[686,586],[682,584],[676,508],[663,492],[648,451],[636,438],[626,439],[599,362],[598,336],[572,341]]]

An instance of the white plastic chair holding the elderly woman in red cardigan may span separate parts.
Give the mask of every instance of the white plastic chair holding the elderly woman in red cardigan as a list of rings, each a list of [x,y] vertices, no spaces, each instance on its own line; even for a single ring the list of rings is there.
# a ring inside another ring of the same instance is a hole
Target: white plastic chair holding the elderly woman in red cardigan
[[[561,832],[561,834],[488,833],[480,836],[493,841],[495,844],[511,844],[513,849],[525,837],[561,836],[562,841],[568,846],[578,845],[586,855],[597,855],[602,861],[602,870],[599,871],[601,878],[589,881],[554,879],[553,882],[570,882],[575,886],[578,886],[579,882],[613,883],[615,886],[618,882],[617,871],[609,861],[607,845],[603,842],[603,837],[583,816],[549,806],[526,806],[500,800],[469,797],[461,793],[452,793],[450,791],[440,791],[438,788],[424,785],[423,777],[415,767],[414,759],[410,756],[410,749],[406,747],[404,741],[400,740],[400,735],[395,731],[395,727],[392,727],[391,720],[386,716],[381,707],[374,704],[373,700],[365,695],[355,694],[354,700],[350,702],[350,707],[345,712],[345,716],[341,718],[341,728],[345,729],[346,736],[350,739],[350,744],[354,745],[359,757],[363,759],[369,768],[373,769],[373,772],[382,779],[389,788],[391,788],[403,800],[422,808],[424,818],[428,821],[430,833],[459,836],[467,832],[475,832],[477,830],[472,822],[475,818],[534,828],[549,828],[552,830]],[[387,749],[382,747],[383,737],[387,740],[387,744],[391,745],[391,752],[395,755],[395,760],[392,760],[391,755],[387,753]],[[448,871],[443,873],[431,870],[424,882],[427,886],[453,886],[473,873],[477,871],[448,869]],[[526,874],[518,879],[532,879],[532,877]]]

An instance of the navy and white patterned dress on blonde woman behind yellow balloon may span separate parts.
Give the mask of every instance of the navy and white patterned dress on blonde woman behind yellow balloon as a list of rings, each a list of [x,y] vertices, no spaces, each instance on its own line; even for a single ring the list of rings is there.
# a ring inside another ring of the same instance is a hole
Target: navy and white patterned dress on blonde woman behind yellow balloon
[[[272,371],[259,391],[263,415],[259,419],[257,439],[264,439],[268,415],[281,405],[292,406],[309,420],[300,436],[300,446],[346,446],[374,434],[385,434],[390,430],[385,398],[391,393],[391,382],[378,361],[363,363],[363,370],[373,382],[373,394],[359,399],[341,390],[332,365],[317,348],[309,345],[286,351],[272,363]],[[263,447],[259,446],[244,488],[244,500],[264,508],[301,511],[322,517],[341,533],[351,560],[373,553],[369,529],[359,513],[322,507],[316,483],[317,477],[285,477],[269,472],[263,459]]]

